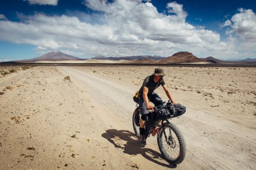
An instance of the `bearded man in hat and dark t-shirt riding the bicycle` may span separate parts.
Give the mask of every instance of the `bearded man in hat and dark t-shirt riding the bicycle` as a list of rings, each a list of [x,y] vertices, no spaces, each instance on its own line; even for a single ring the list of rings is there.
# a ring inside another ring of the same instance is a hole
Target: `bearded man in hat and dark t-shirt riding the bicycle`
[[[155,106],[162,105],[163,101],[158,96],[157,93],[154,92],[160,85],[162,85],[163,89],[167,97],[172,101],[175,105],[172,94],[168,90],[165,81],[163,80],[163,76],[166,74],[163,72],[163,69],[156,68],[154,74],[147,76],[143,84],[139,90],[139,106],[140,106],[140,114],[142,115],[140,118],[140,142],[146,144],[146,136],[145,136],[145,120],[147,116],[150,116],[149,110],[153,110],[153,106],[149,103],[150,101],[154,103]]]

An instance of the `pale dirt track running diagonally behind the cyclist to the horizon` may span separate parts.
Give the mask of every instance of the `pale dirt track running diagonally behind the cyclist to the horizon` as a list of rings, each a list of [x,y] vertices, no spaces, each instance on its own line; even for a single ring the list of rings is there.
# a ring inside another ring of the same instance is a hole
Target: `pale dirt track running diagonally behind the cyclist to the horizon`
[[[137,89],[121,86],[118,82],[112,82],[107,78],[98,78],[93,76],[92,73],[85,73],[71,67],[59,67],[59,69],[77,81],[78,86],[81,86],[81,88],[84,86],[86,94],[94,100],[93,104],[97,108],[102,109],[102,112],[96,112],[96,114],[100,117],[103,124],[111,123],[111,126],[118,131],[128,130],[129,133],[133,133],[131,116],[135,104],[132,101],[132,96],[133,92]],[[255,131],[248,129],[249,132],[246,134],[246,131],[241,131],[244,128],[233,125],[229,120],[221,120],[214,114],[207,114],[207,111],[192,107],[192,104],[187,104],[188,111],[184,117],[174,121],[174,123],[179,122],[177,123],[178,127],[181,128],[185,136],[188,148],[185,159],[187,163],[182,163],[178,167],[181,169],[236,169],[244,162],[248,164],[247,166],[250,169],[251,165],[249,162],[253,162],[255,157],[253,153],[247,155],[241,152],[241,150],[255,150],[255,142],[247,140],[248,137],[246,137],[253,136]],[[239,139],[243,141],[240,143],[241,146],[237,146],[239,142],[236,141],[236,138],[242,138]],[[141,164],[142,167],[145,167],[145,169],[159,168],[158,159],[152,162],[139,154],[145,152],[145,149],[148,148],[149,150],[154,150],[153,153],[158,152],[159,156],[155,139],[149,139],[147,146],[138,151],[129,151],[134,146],[128,147],[130,148],[125,147],[124,152],[138,154],[139,162],[137,163]],[[166,164],[166,162],[161,164]],[[168,167],[167,164],[166,167]],[[242,167],[244,168],[244,165]]]

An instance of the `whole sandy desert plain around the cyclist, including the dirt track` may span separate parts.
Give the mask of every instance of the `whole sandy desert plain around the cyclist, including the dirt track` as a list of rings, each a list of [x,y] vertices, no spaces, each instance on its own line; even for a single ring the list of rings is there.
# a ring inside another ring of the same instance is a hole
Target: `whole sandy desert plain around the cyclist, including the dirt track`
[[[132,130],[132,97],[154,67],[37,66],[0,77],[0,169],[255,169],[256,68],[163,69],[187,107],[171,120],[186,140],[181,164]]]

